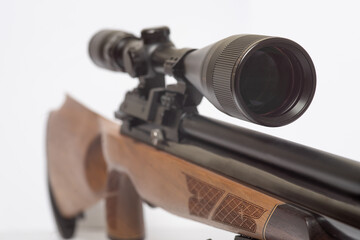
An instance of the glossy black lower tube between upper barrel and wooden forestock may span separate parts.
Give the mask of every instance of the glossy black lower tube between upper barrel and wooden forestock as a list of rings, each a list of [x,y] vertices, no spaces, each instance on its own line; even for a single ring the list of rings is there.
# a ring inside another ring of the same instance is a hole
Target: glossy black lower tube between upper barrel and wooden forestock
[[[121,131],[153,145],[150,134],[153,128],[150,124],[142,124],[131,131],[125,128]],[[187,135],[182,135],[179,143],[163,141],[156,147],[289,204],[360,228],[359,203],[336,200],[311,186],[298,185],[293,173],[286,174],[258,159]]]

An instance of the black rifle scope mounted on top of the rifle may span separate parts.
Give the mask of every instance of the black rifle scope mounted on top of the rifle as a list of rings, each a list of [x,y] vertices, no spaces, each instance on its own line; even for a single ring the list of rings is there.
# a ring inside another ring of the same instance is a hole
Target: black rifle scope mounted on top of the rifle
[[[315,93],[309,54],[280,37],[235,35],[201,49],[177,49],[167,27],[141,38],[105,30],[90,41],[93,62],[132,77],[173,75],[191,83],[220,111],[265,126],[298,119]]]

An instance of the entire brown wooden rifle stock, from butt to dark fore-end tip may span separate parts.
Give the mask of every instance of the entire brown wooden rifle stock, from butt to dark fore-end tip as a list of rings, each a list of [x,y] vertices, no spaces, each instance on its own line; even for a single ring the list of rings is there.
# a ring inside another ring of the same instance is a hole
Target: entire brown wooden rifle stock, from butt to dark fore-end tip
[[[123,136],[119,127],[71,97],[50,114],[49,183],[62,219],[106,199],[109,237],[143,239],[145,201],[255,239],[346,239],[323,230],[321,217]],[[62,234],[71,237],[71,229]]]

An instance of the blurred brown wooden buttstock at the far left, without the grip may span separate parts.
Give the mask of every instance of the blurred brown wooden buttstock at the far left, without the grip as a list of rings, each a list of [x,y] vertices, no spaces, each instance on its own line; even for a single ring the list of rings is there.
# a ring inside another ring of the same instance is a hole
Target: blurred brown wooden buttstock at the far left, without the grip
[[[102,155],[99,152],[102,147],[96,145],[100,144],[96,140],[100,137],[99,119],[70,97],[49,116],[46,140],[49,180],[65,217],[78,215],[105,196],[106,163],[104,158],[95,157]]]

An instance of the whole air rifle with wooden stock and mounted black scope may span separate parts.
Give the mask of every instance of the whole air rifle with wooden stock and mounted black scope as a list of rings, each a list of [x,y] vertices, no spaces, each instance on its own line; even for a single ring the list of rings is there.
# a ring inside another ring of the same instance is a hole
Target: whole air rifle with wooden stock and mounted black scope
[[[237,240],[360,239],[359,163],[197,111],[205,97],[256,124],[295,121],[315,92],[308,53],[262,35],[178,49],[169,34],[104,30],[91,39],[97,66],[139,79],[115,112],[121,124],[69,96],[50,114],[49,192],[62,237],[104,199],[112,240],[144,239],[142,203]]]

